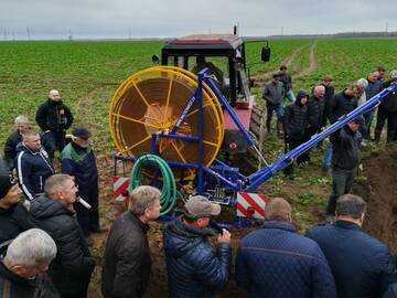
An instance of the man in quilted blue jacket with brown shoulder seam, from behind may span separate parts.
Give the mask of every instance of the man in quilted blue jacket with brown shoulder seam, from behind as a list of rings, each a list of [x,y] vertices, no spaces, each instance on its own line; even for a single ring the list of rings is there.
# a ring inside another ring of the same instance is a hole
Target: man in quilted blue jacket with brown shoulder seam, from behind
[[[297,233],[291,206],[281,198],[266,204],[264,227],[242,240],[236,280],[251,298],[336,297],[323,253]]]

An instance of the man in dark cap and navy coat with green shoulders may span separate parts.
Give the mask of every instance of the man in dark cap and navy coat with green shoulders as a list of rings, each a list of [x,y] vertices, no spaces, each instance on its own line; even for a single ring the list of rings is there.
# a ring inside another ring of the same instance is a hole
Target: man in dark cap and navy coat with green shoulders
[[[86,237],[99,231],[98,170],[89,137],[88,129],[74,128],[72,141],[61,153],[61,172],[75,178],[79,196],[92,205],[87,210],[82,204],[75,204],[77,221]]]

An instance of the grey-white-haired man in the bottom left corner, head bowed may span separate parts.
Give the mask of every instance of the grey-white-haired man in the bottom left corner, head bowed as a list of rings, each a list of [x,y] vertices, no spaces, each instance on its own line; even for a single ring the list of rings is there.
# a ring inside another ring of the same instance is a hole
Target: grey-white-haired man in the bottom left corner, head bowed
[[[44,231],[31,228],[21,233],[0,260],[0,297],[60,297],[45,274],[55,255],[56,245]]]

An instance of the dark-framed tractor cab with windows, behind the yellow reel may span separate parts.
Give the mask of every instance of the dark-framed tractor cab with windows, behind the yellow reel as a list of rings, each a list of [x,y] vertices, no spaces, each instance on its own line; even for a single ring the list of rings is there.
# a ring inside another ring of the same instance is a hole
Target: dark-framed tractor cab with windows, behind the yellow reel
[[[264,58],[266,55],[262,55]],[[161,64],[193,73],[208,67],[208,74],[233,107],[247,109],[253,105],[245,43],[237,35],[202,34],[170,40],[162,47]]]

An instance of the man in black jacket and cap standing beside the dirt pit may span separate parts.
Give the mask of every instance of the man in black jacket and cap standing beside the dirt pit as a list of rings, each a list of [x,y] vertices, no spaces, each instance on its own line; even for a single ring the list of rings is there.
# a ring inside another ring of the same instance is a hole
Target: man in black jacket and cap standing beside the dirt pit
[[[326,222],[335,219],[336,200],[352,189],[360,163],[360,126],[364,125],[363,116],[355,118],[331,136],[332,142],[332,193],[326,205]]]

